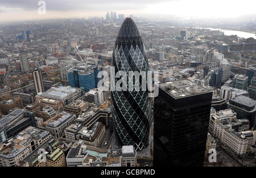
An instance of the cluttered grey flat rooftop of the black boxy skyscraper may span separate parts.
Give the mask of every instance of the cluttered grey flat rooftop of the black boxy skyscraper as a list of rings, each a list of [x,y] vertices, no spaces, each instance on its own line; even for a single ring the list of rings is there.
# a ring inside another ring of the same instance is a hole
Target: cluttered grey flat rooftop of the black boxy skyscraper
[[[175,98],[208,93],[209,90],[191,80],[178,80],[159,84],[160,88],[170,93]]]

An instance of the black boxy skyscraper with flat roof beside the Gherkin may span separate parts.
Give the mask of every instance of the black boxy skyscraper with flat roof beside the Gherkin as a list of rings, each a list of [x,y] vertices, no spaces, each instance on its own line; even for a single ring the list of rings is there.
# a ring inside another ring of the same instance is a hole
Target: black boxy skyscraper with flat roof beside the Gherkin
[[[154,166],[203,166],[212,92],[190,80],[159,84]]]

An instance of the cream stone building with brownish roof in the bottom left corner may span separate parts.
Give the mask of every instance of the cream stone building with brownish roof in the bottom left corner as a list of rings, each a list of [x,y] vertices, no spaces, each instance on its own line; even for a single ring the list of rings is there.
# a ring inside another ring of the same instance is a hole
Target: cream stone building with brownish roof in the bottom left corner
[[[5,140],[0,144],[0,167],[17,166],[20,160],[26,158],[50,137],[48,131],[30,126],[13,138]]]

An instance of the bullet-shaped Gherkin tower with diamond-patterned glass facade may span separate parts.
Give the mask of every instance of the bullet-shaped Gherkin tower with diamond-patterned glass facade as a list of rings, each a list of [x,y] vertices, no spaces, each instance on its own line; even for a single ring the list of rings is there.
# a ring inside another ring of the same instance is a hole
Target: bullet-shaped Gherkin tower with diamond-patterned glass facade
[[[115,40],[112,66],[115,73],[127,73],[126,91],[111,91],[113,123],[115,133],[122,145],[134,145],[143,148],[148,144],[148,134],[151,117],[151,102],[148,90],[142,90],[142,80],[139,80],[139,90],[129,91],[129,81],[135,85],[134,78],[129,78],[129,71],[144,71],[147,77],[148,61],[141,34],[134,21],[126,18]],[[115,84],[120,78],[115,78]]]

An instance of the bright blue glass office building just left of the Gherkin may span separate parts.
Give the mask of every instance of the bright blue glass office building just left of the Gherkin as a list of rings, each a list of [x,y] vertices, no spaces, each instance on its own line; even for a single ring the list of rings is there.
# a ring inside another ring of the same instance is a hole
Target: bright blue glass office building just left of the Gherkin
[[[89,92],[92,88],[97,88],[98,72],[102,71],[102,67],[94,64],[80,64],[68,70],[68,84],[76,88],[81,88],[85,92]]]

